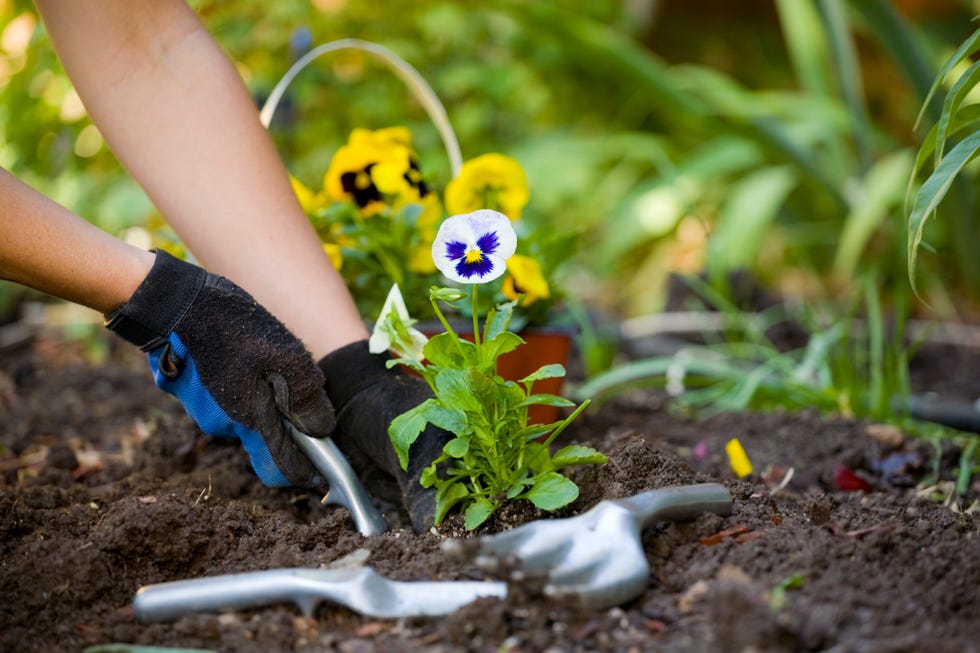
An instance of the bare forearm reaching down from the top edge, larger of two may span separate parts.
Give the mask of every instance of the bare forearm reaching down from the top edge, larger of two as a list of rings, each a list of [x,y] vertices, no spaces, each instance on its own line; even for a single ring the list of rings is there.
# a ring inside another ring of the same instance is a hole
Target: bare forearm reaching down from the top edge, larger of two
[[[38,6],[93,120],[201,263],[314,354],[364,337],[244,84],[193,12],[175,0]]]

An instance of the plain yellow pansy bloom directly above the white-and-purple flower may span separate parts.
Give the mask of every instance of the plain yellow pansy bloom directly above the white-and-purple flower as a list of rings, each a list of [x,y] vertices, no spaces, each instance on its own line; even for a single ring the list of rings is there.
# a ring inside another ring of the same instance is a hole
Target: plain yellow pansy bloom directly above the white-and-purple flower
[[[459,176],[446,186],[446,209],[451,215],[493,209],[516,220],[528,197],[521,165],[509,156],[492,152],[463,164]]]

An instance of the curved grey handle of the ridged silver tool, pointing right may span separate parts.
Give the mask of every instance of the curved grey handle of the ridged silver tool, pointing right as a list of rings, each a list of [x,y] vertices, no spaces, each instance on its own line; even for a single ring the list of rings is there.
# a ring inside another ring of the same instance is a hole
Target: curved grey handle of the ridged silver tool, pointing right
[[[732,495],[720,483],[657,488],[616,503],[636,514],[642,528],[661,521],[696,519],[706,512],[722,516],[732,512]]]

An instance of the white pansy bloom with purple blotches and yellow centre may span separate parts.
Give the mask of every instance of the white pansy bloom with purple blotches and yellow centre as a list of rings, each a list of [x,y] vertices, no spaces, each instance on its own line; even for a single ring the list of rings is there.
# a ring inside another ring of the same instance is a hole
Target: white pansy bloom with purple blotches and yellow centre
[[[517,249],[517,233],[503,213],[482,209],[454,215],[439,227],[432,259],[458,283],[486,283],[507,271]]]

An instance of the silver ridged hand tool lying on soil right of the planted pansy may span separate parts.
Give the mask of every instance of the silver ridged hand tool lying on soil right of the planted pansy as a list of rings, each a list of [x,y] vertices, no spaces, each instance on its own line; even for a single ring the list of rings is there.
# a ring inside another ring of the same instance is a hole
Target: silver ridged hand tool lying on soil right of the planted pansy
[[[724,486],[681,485],[602,501],[576,517],[539,520],[476,542],[447,540],[443,550],[473,558],[491,573],[544,574],[545,595],[602,609],[646,589],[650,568],[640,541],[644,528],[694,519],[705,512],[725,516],[731,510],[732,495]]]

